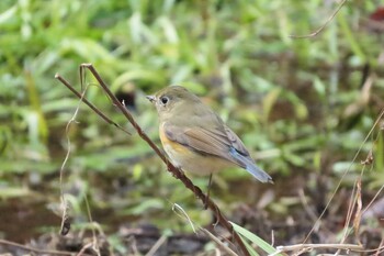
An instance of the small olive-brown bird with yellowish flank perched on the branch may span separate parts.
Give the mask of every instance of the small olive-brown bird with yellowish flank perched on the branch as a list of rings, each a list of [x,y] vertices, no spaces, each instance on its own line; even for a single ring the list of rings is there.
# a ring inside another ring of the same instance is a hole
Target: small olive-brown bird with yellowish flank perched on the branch
[[[240,138],[195,94],[170,86],[147,99],[156,105],[160,141],[176,167],[212,178],[218,170],[237,166],[261,182],[272,182]]]

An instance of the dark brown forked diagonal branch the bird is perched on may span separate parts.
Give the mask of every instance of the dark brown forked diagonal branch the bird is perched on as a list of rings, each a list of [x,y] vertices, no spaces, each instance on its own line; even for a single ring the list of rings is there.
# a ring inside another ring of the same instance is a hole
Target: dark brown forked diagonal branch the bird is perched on
[[[92,64],[81,64],[80,65],[80,75],[83,74],[84,69],[88,69],[91,71],[91,74],[94,76],[94,78],[98,80],[102,89],[105,91],[108,97],[112,100],[113,104],[116,105],[120,111],[125,115],[125,118],[129,121],[132,126],[137,131],[138,135],[147,142],[147,144],[155,151],[155,153],[161,158],[161,160],[167,165],[167,169],[169,172],[172,174],[172,176],[177,179],[179,179],[181,182],[184,183],[184,186],[191,190],[203,203],[210,208],[210,210],[216,215],[217,222],[222,224],[230,234],[233,240],[236,242],[236,244],[239,246],[240,252],[242,255],[249,256],[246,245],[244,244],[241,237],[234,231],[234,226],[228,222],[228,220],[224,216],[219,208],[216,205],[214,201],[212,201],[211,198],[207,198],[203,191],[183,174],[179,168],[174,167],[167,157],[162,154],[162,152],[159,149],[159,147],[156,146],[156,144],[148,137],[148,135],[142,130],[142,127],[138,125],[138,123],[134,120],[129,111],[117,100],[117,98],[111,92],[111,90],[108,88],[106,84],[103,81],[103,79],[100,77],[99,73],[94,69]],[[72,86],[68,81],[66,81],[60,75],[55,76],[56,79],[58,79],[61,84],[64,84],[67,88],[70,89],[72,93],[75,93],[78,98],[81,98],[81,94],[77,92]],[[100,111],[97,111],[95,108],[92,108],[92,104],[90,102],[87,103],[86,99],[82,99],[87,105],[89,105],[97,114],[101,115]],[[104,119],[104,118],[103,118]],[[104,119],[106,122],[116,125],[113,121],[109,121],[110,119]]]

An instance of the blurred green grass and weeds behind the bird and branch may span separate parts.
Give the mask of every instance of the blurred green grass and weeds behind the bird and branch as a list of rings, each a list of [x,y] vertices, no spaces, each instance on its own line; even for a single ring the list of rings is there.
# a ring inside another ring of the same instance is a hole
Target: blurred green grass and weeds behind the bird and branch
[[[273,230],[278,245],[301,243],[349,169],[309,240],[339,242],[360,160],[371,148],[363,205],[384,183],[383,130],[374,130],[352,163],[384,105],[382,26],[371,15],[380,2],[348,1],[317,36],[293,38],[323,25],[338,3],[2,0],[0,236],[24,243],[57,233],[65,127],[79,102],[54,75],[79,85],[79,65],[92,63],[157,142],[156,112],[145,94],[179,84],[217,111],[275,185],[233,169],[214,177],[212,197],[230,220],[268,242]],[[87,98],[133,131],[99,87]],[[64,177],[72,231],[88,222],[86,197],[93,221],[122,254],[129,249],[116,237],[126,225],[191,233],[173,203],[199,225],[213,222],[136,134],[105,124],[83,104],[76,120]],[[373,223],[364,232],[374,248],[383,234]]]

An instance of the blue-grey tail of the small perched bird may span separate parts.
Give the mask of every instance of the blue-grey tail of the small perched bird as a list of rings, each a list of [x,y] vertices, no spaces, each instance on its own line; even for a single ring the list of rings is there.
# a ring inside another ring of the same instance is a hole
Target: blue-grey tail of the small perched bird
[[[251,174],[256,179],[261,182],[271,182],[272,178],[264,170],[259,168],[249,156],[244,156],[235,148],[229,149],[230,155],[236,159],[236,162],[245,168],[249,174]]]

